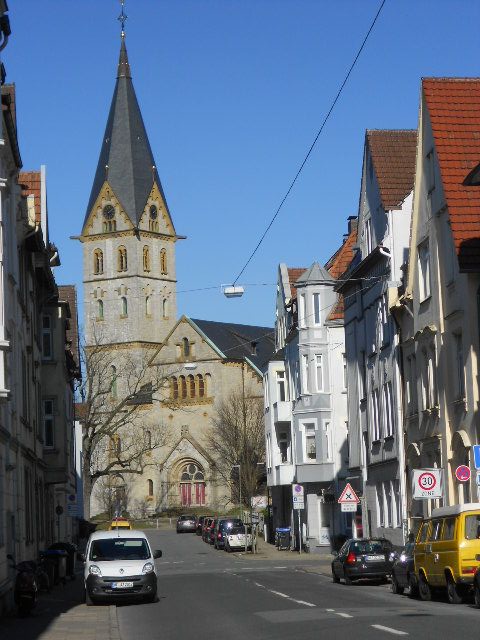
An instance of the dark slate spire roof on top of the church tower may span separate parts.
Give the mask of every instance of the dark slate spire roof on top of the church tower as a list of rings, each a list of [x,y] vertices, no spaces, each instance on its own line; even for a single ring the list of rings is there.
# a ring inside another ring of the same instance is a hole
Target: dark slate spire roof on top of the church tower
[[[117,81],[84,225],[105,181],[112,188],[134,227],[138,227],[154,181],[167,206],[133,88],[123,33]]]

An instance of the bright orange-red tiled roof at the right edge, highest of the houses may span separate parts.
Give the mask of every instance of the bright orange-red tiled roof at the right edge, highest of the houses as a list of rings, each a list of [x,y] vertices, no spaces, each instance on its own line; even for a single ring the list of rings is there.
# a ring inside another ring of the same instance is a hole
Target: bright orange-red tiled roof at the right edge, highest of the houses
[[[480,78],[424,78],[443,191],[461,271],[480,270],[480,188],[462,183],[480,162]]]

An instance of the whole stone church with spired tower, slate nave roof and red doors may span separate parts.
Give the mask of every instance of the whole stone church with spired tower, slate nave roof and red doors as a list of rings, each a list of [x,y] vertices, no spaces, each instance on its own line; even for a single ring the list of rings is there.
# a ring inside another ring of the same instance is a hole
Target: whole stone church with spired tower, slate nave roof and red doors
[[[165,384],[139,407],[144,433],[168,434],[140,475],[111,480],[128,510],[229,509],[232,488],[218,473],[207,433],[216,406],[232,391],[263,397],[262,370],[273,330],[177,320],[175,230],[133,88],[122,33],[118,74],[80,241],[83,244],[86,348],[111,350],[115,393],[127,363],[148,362]],[[147,394],[148,396],[148,394]],[[150,437],[150,435],[149,435]],[[118,434],[117,438],[121,438]],[[108,444],[103,444],[108,456]],[[98,492],[97,492],[98,493]],[[103,505],[91,499],[91,515]]]

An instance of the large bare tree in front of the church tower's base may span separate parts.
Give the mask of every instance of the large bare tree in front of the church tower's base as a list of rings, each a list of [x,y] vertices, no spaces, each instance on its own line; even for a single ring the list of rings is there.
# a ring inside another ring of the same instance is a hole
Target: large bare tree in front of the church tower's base
[[[113,350],[98,337],[95,344],[82,349],[85,375],[78,417],[83,426],[86,519],[99,478],[142,474],[145,467],[155,464],[151,452],[168,442],[165,425],[148,423],[148,405],[153,402],[175,409],[169,401],[170,374],[151,366],[151,355],[140,350]]]

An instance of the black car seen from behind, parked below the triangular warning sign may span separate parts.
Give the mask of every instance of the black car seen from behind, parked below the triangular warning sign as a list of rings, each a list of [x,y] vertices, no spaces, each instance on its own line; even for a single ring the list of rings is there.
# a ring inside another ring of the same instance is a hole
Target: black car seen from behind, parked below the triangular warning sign
[[[392,543],[385,538],[347,540],[332,561],[333,581],[386,580],[392,570],[392,552]]]

